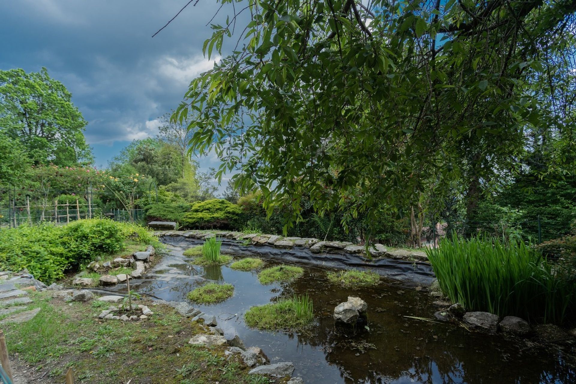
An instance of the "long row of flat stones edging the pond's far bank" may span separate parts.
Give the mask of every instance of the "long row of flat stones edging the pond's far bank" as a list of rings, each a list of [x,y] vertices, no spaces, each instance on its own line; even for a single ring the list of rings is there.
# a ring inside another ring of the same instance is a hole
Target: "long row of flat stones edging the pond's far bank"
[[[251,233],[245,234],[242,232],[234,231],[155,231],[154,235],[157,236],[182,236],[194,239],[207,239],[210,237],[223,237],[234,239],[238,241],[248,241],[251,245],[262,246],[268,245],[274,248],[291,249],[293,247],[303,247],[310,249],[312,253],[321,252],[340,252],[358,254],[359,256],[366,257],[366,248],[363,245],[353,244],[348,241],[321,241],[316,238],[304,237],[282,237],[278,235],[258,234]],[[425,261],[428,262],[428,257],[425,252],[420,250],[388,250],[382,244],[374,244],[370,250],[372,257],[381,258],[388,257],[395,260],[405,261]]]

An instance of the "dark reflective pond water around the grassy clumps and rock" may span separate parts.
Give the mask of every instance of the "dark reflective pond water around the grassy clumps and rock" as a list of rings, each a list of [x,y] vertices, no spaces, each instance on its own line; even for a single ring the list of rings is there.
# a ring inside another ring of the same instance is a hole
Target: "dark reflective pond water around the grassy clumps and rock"
[[[306,383],[576,382],[576,371],[569,363],[574,360],[562,351],[535,349],[525,341],[407,317],[432,318],[437,310],[434,299],[414,283],[382,277],[374,288],[340,288],[328,283],[328,268],[300,264],[305,268],[300,279],[263,286],[255,272],[193,266],[182,255],[186,247],[179,245],[169,246],[168,256],[147,274],[138,290],[167,301],[187,301],[188,292],[210,280],[233,284],[232,298],[195,307],[215,315],[227,336],[238,334],[247,347],[261,347],[272,363],[293,362],[294,375]],[[267,267],[277,264],[266,263]],[[242,315],[249,307],[305,293],[314,304],[315,324],[310,330],[264,332],[244,324]],[[335,326],[332,312],[347,296],[368,303],[369,330]]]

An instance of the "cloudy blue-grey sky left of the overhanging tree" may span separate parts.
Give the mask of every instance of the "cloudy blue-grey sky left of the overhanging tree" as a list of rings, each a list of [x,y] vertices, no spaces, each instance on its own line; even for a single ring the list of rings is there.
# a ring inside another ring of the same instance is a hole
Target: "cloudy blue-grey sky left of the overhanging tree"
[[[89,121],[96,165],[106,166],[131,140],[156,135],[158,116],[176,108],[190,80],[213,66],[202,43],[211,35],[214,0],[192,2],[151,38],[187,2],[0,1],[0,69],[46,67],[63,82]],[[200,164],[219,163],[208,157]]]

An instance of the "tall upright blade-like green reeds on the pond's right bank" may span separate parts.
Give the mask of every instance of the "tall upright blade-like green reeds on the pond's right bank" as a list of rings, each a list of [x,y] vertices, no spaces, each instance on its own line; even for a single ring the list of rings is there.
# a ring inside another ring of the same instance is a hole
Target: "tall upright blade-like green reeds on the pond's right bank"
[[[558,323],[575,313],[576,280],[524,242],[452,237],[426,253],[442,292],[467,310]]]

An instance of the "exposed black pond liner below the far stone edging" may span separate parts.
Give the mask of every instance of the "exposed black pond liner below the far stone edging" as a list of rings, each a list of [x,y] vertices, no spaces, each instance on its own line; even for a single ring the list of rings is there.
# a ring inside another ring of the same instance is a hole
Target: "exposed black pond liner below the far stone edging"
[[[161,236],[165,244],[188,248],[202,245],[203,240],[183,236]],[[428,263],[419,261],[394,260],[392,258],[375,258],[367,260],[358,254],[321,252],[312,253],[308,248],[294,246],[291,249],[274,248],[270,245],[243,245],[240,242],[221,238],[221,252],[232,256],[258,256],[268,260],[283,261],[284,263],[304,263],[321,265],[323,267],[350,269],[366,268],[392,279],[404,283],[429,286],[433,280],[434,272]]]

